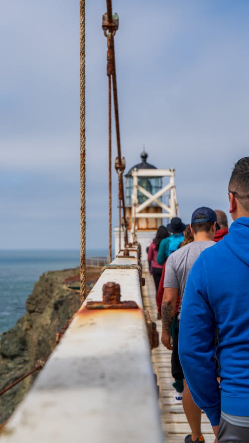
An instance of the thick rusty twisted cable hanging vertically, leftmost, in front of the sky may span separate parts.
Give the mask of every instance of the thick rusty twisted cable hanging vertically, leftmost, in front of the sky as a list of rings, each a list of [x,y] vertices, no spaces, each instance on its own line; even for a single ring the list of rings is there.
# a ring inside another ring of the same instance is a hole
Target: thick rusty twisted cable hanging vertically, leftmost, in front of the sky
[[[80,0],[80,300],[86,297],[85,0]]]

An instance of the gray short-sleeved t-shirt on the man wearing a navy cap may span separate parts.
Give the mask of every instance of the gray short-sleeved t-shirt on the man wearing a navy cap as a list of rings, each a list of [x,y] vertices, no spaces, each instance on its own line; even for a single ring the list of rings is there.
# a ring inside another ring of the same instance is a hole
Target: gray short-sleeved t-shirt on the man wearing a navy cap
[[[200,253],[207,247],[213,246],[213,244],[216,243],[212,240],[192,241],[180,247],[168,257],[165,265],[163,287],[179,288],[180,305],[178,312],[181,311],[183,292],[190,269]]]

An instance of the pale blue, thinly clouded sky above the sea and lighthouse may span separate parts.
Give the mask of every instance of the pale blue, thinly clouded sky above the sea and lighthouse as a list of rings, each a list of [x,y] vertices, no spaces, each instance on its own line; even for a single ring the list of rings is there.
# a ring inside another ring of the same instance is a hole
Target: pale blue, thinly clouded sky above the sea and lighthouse
[[[79,1],[0,0],[0,248],[79,248]],[[174,168],[180,216],[224,210],[249,155],[249,2],[113,0],[122,155]],[[86,0],[87,248],[108,248],[108,78]],[[117,155],[113,133],[113,158]],[[113,224],[118,224],[113,168]]]

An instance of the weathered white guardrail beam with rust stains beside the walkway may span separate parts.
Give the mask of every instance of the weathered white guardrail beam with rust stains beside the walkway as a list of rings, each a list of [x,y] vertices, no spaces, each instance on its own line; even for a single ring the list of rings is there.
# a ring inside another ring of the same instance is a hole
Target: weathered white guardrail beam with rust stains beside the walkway
[[[2,443],[164,441],[142,308],[138,251],[129,250],[129,256],[121,251],[103,269],[5,426]],[[120,285],[121,297],[119,286],[111,282]]]

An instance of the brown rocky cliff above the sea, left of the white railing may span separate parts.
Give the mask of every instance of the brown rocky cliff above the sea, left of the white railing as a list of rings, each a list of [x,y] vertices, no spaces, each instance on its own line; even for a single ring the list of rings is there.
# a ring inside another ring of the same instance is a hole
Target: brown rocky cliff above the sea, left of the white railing
[[[98,268],[87,269],[87,293]],[[79,286],[79,269],[46,272],[26,300],[26,313],[2,334],[0,342],[0,390],[46,360],[55,347],[56,335],[80,307],[80,294],[67,287]],[[37,371],[0,396],[0,423],[22,400]]]

